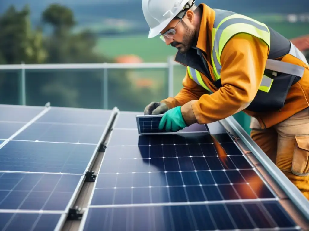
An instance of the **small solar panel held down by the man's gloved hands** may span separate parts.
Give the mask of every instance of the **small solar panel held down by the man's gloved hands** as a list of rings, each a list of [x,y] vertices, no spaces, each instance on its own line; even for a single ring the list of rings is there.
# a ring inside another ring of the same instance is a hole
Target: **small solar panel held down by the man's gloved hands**
[[[129,116],[128,116],[129,117]],[[165,129],[160,130],[159,129],[159,124],[162,119],[163,115],[137,115],[136,116],[136,122],[137,122],[137,128],[138,128],[138,133],[139,134],[162,134],[162,133],[172,133],[172,132],[167,132]],[[192,124],[189,127],[186,127],[178,132],[178,133],[183,133],[183,132],[209,132],[209,129],[207,125],[200,125],[200,124]]]

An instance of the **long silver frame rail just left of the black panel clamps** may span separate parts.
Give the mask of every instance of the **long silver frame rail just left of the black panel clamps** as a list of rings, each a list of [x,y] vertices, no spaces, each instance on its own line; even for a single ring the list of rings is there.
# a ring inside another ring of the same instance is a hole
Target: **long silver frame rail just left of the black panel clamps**
[[[73,196],[71,197],[71,199],[70,199],[70,201],[69,201],[69,203],[68,203],[68,205],[67,205],[67,207],[65,209],[65,212],[61,215],[60,220],[58,221],[55,230],[61,230],[63,228],[63,226],[64,226],[64,224],[66,222],[66,219],[68,217],[69,210],[70,210],[70,208],[73,207],[73,205],[74,205],[74,203],[75,203],[75,201],[76,201],[76,199],[77,199],[77,197],[78,197],[78,195],[79,195],[79,193],[80,193],[80,191],[81,191],[81,189],[83,187],[83,184],[84,184],[84,182],[86,180],[86,172],[91,170],[91,168],[92,168],[92,166],[93,166],[93,164],[95,162],[96,156],[98,154],[99,147],[102,144],[102,142],[104,141],[104,139],[106,138],[106,135],[107,135],[108,131],[111,129],[111,127],[113,125],[112,122],[115,119],[117,114],[119,114],[119,109],[117,107],[114,107],[112,109],[112,113],[111,113],[111,115],[110,115],[110,117],[108,119],[108,122],[107,122],[107,124],[106,124],[106,126],[104,128],[102,136],[100,137],[100,140],[99,140],[98,144],[96,145],[95,150],[94,150],[94,152],[93,152],[93,154],[91,156],[91,159],[90,159],[90,161],[89,161],[89,163],[87,165],[85,173],[81,176],[81,179],[79,180],[78,185],[75,188]]]

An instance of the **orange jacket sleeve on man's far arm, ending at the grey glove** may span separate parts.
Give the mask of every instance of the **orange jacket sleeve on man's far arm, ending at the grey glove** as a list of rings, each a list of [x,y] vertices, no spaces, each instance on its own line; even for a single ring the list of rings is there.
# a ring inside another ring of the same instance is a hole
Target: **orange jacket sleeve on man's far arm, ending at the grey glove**
[[[201,87],[197,83],[195,83],[192,79],[190,79],[188,71],[182,80],[182,85],[184,86],[175,97],[169,97],[167,99],[163,99],[161,103],[166,103],[168,109],[182,106],[185,103],[188,103],[191,100],[197,100],[204,94],[209,94],[204,87]]]

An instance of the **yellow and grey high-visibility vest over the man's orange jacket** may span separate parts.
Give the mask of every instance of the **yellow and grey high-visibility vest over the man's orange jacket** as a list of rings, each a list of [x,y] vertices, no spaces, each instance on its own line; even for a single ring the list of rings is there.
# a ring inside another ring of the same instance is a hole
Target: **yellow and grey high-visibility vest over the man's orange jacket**
[[[212,29],[211,61],[214,71],[214,77],[216,81],[220,81],[220,74],[222,68],[220,57],[226,43],[234,35],[239,33],[251,34],[264,41],[268,45],[270,50],[271,33],[269,31],[269,28],[264,23],[258,22],[247,16],[227,10],[214,9],[214,11],[216,13],[216,16],[214,20],[214,26]],[[303,53],[299,51],[291,42],[290,42],[289,54],[302,60],[304,63],[308,65],[307,60],[303,55]],[[259,91],[265,93],[268,93],[271,90],[277,72],[297,76],[299,80],[303,76],[305,70],[304,67],[300,67],[298,65],[294,65],[291,63],[281,62],[275,59],[267,59],[265,69],[270,70],[270,72],[272,72],[272,75],[270,76],[263,75]],[[187,67],[187,71],[189,77],[192,80],[194,80],[198,85],[204,87],[206,90],[210,91],[209,87],[207,87],[205,82],[203,81],[199,71],[196,71],[191,67]]]

